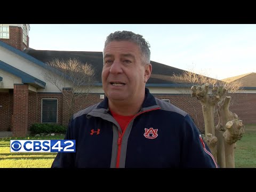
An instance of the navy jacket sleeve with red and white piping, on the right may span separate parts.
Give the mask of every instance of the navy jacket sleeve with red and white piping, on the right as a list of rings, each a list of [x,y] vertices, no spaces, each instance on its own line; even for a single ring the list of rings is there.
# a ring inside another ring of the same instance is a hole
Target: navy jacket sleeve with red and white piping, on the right
[[[181,166],[218,168],[217,162],[211,154],[209,147],[204,142],[201,133],[189,115],[186,115],[182,126]]]

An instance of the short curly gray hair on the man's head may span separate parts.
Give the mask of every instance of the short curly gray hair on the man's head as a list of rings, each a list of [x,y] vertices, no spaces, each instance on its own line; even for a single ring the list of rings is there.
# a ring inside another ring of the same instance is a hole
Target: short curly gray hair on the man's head
[[[143,38],[142,35],[135,34],[132,31],[115,31],[114,33],[111,33],[109,36],[107,36],[104,50],[107,44],[113,41],[130,41],[136,43],[140,47],[141,55],[143,57],[142,62],[150,63],[150,44],[146,41],[145,38]]]

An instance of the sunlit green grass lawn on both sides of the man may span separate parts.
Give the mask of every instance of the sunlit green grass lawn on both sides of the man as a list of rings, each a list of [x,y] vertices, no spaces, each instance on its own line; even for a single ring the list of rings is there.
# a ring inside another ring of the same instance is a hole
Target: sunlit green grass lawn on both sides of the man
[[[0,138],[0,168],[49,168],[57,153],[10,153],[10,140],[63,139],[64,135],[25,138]],[[236,142],[235,167],[256,168],[256,124],[245,125],[245,133]]]

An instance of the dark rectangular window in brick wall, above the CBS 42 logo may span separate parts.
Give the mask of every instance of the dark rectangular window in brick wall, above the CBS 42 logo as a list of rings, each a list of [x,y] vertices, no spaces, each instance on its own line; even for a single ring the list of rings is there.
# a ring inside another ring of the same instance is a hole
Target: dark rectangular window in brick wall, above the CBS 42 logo
[[[42,99],[42,123],[57,123],[58,99]]]

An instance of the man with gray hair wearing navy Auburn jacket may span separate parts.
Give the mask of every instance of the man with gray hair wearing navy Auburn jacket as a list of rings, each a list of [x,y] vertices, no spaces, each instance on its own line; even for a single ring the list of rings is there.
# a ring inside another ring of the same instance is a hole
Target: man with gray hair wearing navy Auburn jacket
[[[73,116],[65,139],[76,140],[76,153],[58,153],[52,167],[217,167],[189,115],[145,87],[149,47],[131,31],[107,37],[106,97]]]

